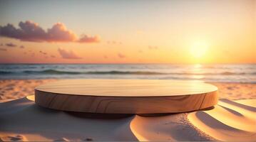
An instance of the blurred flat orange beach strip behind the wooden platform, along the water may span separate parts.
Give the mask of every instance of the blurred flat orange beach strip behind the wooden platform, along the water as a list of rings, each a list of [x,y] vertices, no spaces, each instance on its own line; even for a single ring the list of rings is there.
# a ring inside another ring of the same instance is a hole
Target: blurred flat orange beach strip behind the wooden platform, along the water
[[[0,102],[34,94],[39,84],[57,80],[0,80]],[[218,87],[220,99],[256,99],[256,84],[211,83]]]

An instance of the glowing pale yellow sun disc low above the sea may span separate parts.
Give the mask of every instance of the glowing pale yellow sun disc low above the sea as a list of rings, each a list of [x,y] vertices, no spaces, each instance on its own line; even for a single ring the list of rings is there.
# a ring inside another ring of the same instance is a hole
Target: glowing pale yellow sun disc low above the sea
[[[202,58],[208,50],[208,45],[205,42],[193,43],[190,46],[190,54],[194,58]]]

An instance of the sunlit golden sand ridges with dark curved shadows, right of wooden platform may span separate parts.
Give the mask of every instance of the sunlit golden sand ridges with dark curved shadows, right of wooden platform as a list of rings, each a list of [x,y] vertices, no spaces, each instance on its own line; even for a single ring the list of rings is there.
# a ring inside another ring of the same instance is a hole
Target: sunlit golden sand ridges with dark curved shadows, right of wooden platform
[[[188,114],[188,120],[200,131],[219,141],[255,141],[256,108],[245,104],[255,104],[256,99],[242,102],[222,99],[214,109]]]

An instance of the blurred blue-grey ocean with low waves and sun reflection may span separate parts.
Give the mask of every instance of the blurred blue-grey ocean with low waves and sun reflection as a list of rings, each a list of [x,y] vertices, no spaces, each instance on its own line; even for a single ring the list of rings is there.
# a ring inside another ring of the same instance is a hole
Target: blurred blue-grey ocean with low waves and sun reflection
[[[9,79],[157,79],[256,83],[256,64],[1,64],[0,80]]]

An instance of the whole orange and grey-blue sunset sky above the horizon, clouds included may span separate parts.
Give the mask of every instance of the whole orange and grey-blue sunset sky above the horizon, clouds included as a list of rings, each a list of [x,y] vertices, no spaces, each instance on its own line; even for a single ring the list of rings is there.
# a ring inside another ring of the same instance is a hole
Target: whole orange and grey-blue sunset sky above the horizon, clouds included
[[[0,63],[256,63],[256,1],[0,1]]]

